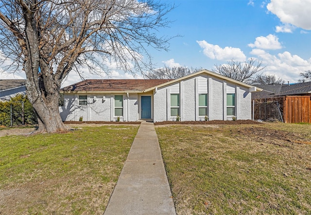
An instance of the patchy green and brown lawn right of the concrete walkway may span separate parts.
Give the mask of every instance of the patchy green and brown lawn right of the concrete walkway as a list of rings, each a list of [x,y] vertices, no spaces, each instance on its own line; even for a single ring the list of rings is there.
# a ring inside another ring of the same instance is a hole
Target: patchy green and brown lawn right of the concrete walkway
[[[311,214],[310,129],[156,127],[177,214]]]

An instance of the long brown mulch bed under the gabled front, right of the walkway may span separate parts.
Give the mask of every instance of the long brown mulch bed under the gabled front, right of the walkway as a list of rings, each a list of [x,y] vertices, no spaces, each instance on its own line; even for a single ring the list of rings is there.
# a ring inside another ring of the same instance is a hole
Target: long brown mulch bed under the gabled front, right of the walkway
[[[250,124],[262,124],[253,120],[211,120],[211,121],[163,121],[155,122],[155,125],[250,125]]]

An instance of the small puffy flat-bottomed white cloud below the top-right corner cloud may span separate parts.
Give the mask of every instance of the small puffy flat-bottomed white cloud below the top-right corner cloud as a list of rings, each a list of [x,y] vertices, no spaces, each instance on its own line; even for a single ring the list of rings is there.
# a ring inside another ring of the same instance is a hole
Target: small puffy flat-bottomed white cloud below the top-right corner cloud
[[[256,37],[256,41],[254,44],[248,44],[251,48],[258,48],[264,50],[277,50],[281,49],[282,46],[280,42],[278,42],[278,38],[275,35],[269,34],[268,36],[259,36]]]

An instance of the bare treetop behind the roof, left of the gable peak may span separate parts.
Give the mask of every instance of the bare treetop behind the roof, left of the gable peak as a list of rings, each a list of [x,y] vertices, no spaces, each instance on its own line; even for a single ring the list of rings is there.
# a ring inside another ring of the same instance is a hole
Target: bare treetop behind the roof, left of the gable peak
[[[145,79],[178,79],[194,72],[200,71],[198,68],[188,68],[186,66],[174,66],[158,68],[152,72],[144,74]]]

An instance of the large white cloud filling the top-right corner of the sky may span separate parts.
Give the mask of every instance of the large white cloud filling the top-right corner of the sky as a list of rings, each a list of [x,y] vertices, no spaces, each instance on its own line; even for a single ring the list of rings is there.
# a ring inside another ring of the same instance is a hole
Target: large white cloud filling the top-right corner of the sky
[[[311,0],[271,0],[267,9],[285,24],[311,30]]]

